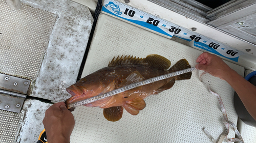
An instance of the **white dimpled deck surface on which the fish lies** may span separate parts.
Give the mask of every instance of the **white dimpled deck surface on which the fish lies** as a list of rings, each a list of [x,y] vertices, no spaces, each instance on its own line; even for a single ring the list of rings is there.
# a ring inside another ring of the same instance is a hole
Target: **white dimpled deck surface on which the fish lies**
[[[117,55],[145,58],[148,54],[159,54],[169,59],[172,65],[185,58],[193,67],[201,53],[112,16],[100,14],[82,77],[108,66]],[[244,74],[243,67],[226,63],[239,74]],[[176,81],[172,89],[147,97],[146,107],[137,116],[124,111],[117,122],[107,121],[101,108],[77,107],[73,112],[76,124],[71,142],[210,142],[202,131],[203,127],[217,139],[224,129],[223,116],[217,98],[199,81],[200,73],[202,71],[194,71],[191,79]],[[234,91],[230,85],[209,74],[203,76],[203,82],[220,94],[228,119],[237,123],[238,116],[233,107]],[[234,135],[230,129],[228,137]]]

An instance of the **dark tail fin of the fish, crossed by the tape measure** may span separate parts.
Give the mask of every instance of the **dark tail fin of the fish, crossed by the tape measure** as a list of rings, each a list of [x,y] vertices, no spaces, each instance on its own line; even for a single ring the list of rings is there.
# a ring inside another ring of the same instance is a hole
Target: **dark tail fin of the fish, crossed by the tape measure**
[[[191,66],[189,65],[186,59],[181,59],[172,68],[169,69],[169,73],[184,70],[187,68],[191,68]],[[192,75],[192,72],[177,75],[175,76],[175,80],[190,79],[191,75]]]

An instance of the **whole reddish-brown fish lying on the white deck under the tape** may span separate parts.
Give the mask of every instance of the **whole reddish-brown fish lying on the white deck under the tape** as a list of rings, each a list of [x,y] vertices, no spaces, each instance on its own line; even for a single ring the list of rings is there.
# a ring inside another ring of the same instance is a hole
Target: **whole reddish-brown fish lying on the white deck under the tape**
[[[66,91],[72,97],[65,103],[75,103],[148,78],[191,68],[186,59],[181,59],[169,69],[170,65],[168,59],[158,54],[150,54],[143,59],[133,58],[131,55],[114,57],[108,67],[91,73],[68,87]],[[146,106],[144,101],[146,97],[172,88],[176,80],[190,79],[191,74],[188,72],[146,84],[85,106],[103,108],[105,119],[116,122],[122,118],[123,108],[131,115],[138,115],[139,111]]]

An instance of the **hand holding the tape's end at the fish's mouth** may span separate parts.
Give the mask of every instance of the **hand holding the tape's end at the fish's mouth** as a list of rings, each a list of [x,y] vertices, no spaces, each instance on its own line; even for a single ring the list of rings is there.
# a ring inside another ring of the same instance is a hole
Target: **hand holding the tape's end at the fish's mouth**
[[[47,141],[49,143],[70,141],[75,120],[71,111],[65,105],[65,102],[55,103],[46,110],[42,123],[45,126]]]

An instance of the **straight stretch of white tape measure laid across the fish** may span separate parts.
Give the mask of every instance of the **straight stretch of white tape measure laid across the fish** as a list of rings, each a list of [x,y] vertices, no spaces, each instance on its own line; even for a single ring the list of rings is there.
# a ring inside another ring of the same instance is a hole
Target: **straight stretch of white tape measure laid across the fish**
[[[136,82],[136,83],[126,85],[125,87],[115,89],[115,90],[113,90],[111,92],[108,92],[108,93],[105,93],[105,94],[97,95],[97,96],[94,96],[94,97],[91,97],[91,98],[88,98],[88,99],[84,99],[84,100],[81,100],[81,101],[78,101],[78,102],[75,102],[75,103],[68,104],[67,108],[70,109],[70,108],[74,108],[74,107],[77,107],[77,106],[92,103],[92,102],[95,102],[95,101],[98,101],[98,100],[101,100],[101,99],[104,99],[104,98],[107,98],[107,97],[110,97],[110,96],[114,96],[114,95],[117,95],[119,93],[131,90],[131,89],[135,89],[137,87],[141,87],[141,86],[146,85],[146,84],[150,84],[150,83],[153,83],[153,82],[156,82],[156,81],[160,81],[160,80],[163,80],[163,79],[167,79],[167,78],[170,78],[170,77],[174,77],[174,76],[177,76],[177,75],[188,73],[188,72],[191,72],[191,71],[194,71],[194,70],[197,70],[197,69],[195,67],[193,67],[193,68],[188,68],[188,69],[184,69],[184,70],[180,70],[180,71],[160,75],[160,76],[157,76],[157,77],[149,78],[149,79],[146,79],[146,80],[142,80],[140,82]]]

